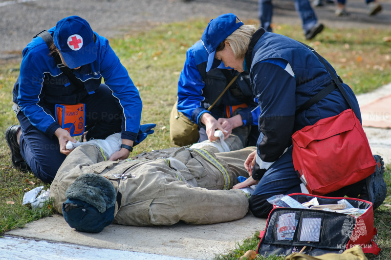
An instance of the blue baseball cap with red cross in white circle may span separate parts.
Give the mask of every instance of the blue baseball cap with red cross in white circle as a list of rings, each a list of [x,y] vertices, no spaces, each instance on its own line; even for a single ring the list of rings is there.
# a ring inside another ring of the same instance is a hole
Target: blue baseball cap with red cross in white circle
[[[78,16],[65,17],[56,24],[54,45],[69,68],[77,68],[96,60],[96,47],[89,23]]]

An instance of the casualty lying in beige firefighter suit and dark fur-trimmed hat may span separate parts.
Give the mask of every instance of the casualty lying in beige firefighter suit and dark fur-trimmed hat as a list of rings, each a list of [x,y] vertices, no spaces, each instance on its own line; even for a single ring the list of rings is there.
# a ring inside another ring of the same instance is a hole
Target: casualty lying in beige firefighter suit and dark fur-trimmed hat
[[[94,141],[70,153],[50,186],[54,208],[78,231],[100,232],[113,220],[134,226],[179,220],[211,224],[247,214],[250,194],[228,189],[238,183],[238,176],[248,177],[243,163],[255,147],[217,153],[206,144],[105,161],[110,155]],[[225,141],[231,150],[243,147],[236,136]]]

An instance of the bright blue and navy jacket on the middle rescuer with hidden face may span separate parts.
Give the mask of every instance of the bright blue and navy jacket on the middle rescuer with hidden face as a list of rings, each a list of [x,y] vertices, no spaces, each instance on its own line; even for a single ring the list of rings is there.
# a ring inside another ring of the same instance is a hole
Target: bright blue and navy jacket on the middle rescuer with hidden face
[[[219,68],[206,72],[208,52],[201,41],[197,41],[187,50],[186,61],[178,81],[178,111],[186,115],[194,123],[200,125],[200,117],[217,99],[231,81],[225,74],[233,78],[239,74],[227,70],[224,64]],[[224,71],[223,71],[224,70]],[[236,82],[224,93],[212,109],[215,118],[225,117],[224,106],[246,103],[247,108],[238,109],[243,125],[258,125],[259,106],[254,100],[248,73],[242,73]]]

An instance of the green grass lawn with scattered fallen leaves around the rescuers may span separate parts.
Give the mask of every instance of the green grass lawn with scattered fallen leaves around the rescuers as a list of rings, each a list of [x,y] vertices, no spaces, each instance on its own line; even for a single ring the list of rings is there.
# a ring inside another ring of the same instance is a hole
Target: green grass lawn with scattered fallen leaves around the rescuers
[[[143,100],[142,123],[157,125],[155,133],[136,146],[133,154],[174,146],[169,135],[169,115],[176,100],[177,80],[186,59],[186,50],[201,38],[207,22],[208,20],[191,20],[163,24],[143,32],[110,39],[111,47],[140,91]],[[382,40],[391,35],[391,29],[326,28],[313,41],[304,40],[299,26],[281,24],[275,27],[275,32],[317,49],[356,94],[391,82],[391,74],[388,73],[391,70],[391,43]],[[44,184],[31,173],[23,173],[12,167],[4,139],[5,129],[9,125],[18,124],[11,107],[12,88],[19,74],[19,67],[20,64],[16,62],[0,66],[0,235],[29,221],[53,214],[50,204],[40,210],[22,206],[25,191]],[[35,184],[28,184],[26,179]],[[391,183],[390,179],[388,183]],[[45,189],[49,187],[44,186]],[[7,204],[7,201],[14,201],[15,204]],[[391,202],[390,198],[388,201]],[[391,244],[385,238],[391,237],[390,230],[381,221],[386,224],[391,222],[390,211],[391,208],[382,206],[375,213],[380,245],[388,248],[388,254],[391,252]]]

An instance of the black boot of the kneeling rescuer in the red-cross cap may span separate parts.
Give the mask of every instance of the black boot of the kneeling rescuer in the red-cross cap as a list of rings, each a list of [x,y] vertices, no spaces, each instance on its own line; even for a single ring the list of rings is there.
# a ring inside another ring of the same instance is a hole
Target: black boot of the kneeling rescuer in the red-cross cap
[[[19,170],[28,171],[30,170],[30,167],[28,167],[26,161],[21,155],[21,149],[19,148],[18,140],[16,138],[20,128],[21,127],[19,125],[12,125],[8,127],[7,130],[5,130],[5,140],[11,150],[12,164]]]

